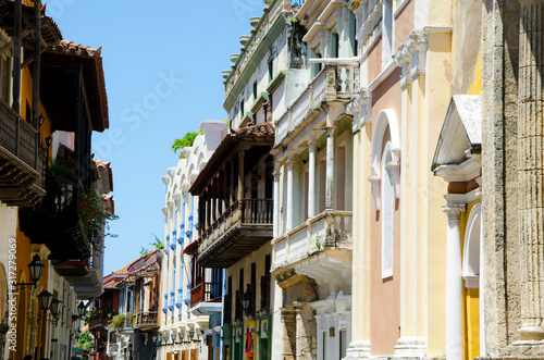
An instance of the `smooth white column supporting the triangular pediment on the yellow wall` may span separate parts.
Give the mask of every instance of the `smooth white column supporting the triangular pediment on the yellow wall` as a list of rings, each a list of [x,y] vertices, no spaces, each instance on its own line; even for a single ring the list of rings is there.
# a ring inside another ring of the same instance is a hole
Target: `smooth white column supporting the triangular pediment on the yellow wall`
[[[465,204],[447,203],[446,358],[462,360],[462,269],[460,219]]]

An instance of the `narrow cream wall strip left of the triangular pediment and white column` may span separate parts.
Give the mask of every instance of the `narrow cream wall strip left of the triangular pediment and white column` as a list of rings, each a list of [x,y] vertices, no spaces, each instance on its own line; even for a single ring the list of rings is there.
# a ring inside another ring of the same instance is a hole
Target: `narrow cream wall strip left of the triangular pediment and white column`
[[[443,10],[445,13],[448,9]],[[437,12],[440,14],[440,11]],[[446,264],[446,224],[447,218],[443,213],[442,206],[445,203],[446,184],[442,178],[437,178],[430,171],[437,144],[442,123],[450,99],[449,82],[450,77],[450,34],[429,35],[428,71],[425,76],[425,87],[428,97],[425,98],[426,138],[422,153],[426,183],[426,209],[425,209],[425,234],[423,259],[421,262],[424,278],[424,293],[426,294],[426,309],[421,315],[424,316],[428,344],[428,356],[443,356],[445,353],[445,264]],[[443,239],[437,241],[436,239]],[[437,269],[437,264],[443,264]],[[420,330],[421,331],[421,330]]]

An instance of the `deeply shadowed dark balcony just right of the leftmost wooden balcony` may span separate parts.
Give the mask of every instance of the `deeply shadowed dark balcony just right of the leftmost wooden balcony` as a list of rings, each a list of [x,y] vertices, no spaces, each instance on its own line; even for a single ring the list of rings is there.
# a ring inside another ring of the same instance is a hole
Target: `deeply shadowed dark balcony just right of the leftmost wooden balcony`
[[[49,260],[82,260],[90,257],[83,222],[77,213],[79,186],[65,177],[48,177],[47,195],[33,208],[20,209],[20,226],[32,244],[45,244]]]

